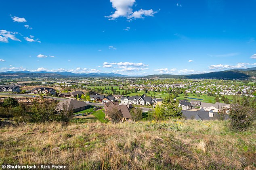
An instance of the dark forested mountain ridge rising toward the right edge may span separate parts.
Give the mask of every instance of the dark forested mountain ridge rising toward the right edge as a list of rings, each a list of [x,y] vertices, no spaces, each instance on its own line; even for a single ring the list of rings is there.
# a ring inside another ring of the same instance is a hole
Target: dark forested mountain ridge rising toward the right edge
[[[210,72],[204,74],[191,75],[171,75],[171,74],[155,74],[145,76],[144,78],[203,78],[203,79],[248,79],[256,77],[256,67],[247,69],[225,70],[221,72]]]

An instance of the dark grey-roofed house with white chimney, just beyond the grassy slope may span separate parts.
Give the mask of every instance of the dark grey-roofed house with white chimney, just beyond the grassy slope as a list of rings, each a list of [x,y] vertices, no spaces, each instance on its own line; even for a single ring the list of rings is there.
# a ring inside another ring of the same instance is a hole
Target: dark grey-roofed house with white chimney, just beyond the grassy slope
[[[229,119],[228,115],[220,115],[217,112],[205,111],[200,109],[199,111],[182,111],[182,117],[184,119],[195,119],[200,121],[210,121],[210,120],[227,120]]]

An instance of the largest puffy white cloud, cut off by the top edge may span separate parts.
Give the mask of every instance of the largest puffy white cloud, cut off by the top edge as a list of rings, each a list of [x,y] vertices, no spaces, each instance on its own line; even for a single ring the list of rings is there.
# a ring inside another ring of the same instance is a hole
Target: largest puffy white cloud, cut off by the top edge
[[[115,20],[119,17],[126,17],[128,20],[132,20],[134,18],[144,18],[143,16],[154,16],[156,11],[143,10],[140,9],[138,11],[132,10],[132,6],[136,0],[110,0],[112,3],[112,7],[115,9],[115,12],[109,16],[105,16],[109,18],[109,20]]]

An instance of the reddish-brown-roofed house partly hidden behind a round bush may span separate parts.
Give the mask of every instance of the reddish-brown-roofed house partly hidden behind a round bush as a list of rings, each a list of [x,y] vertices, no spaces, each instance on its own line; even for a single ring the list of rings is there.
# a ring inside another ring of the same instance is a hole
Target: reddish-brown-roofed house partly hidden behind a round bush
[[[107,112],[111,109],[116,109],[118,112],[120,112],[121,122],[130,121],[132,119],[129,108],[124,104],[119,105],[119,102],[106,102],[104,109],[105,109],[107,118],[108,118]]]

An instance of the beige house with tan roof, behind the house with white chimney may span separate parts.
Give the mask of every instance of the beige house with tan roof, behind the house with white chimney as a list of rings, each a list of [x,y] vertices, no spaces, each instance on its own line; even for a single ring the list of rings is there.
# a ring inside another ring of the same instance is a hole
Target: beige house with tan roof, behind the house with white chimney
[[[231,105],[220,102],[216,102],[215,104],[201,102],[200,109],[204,109],[205,111],[229,113]]]

